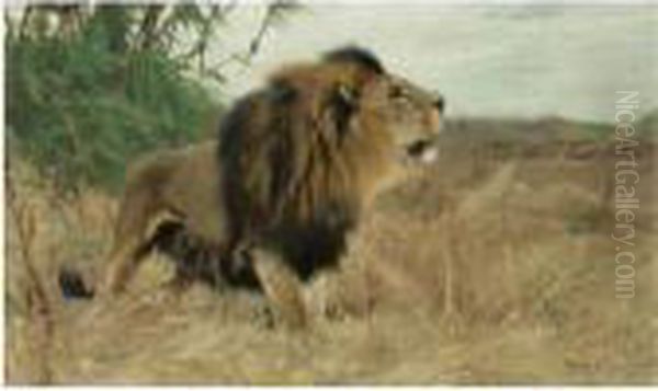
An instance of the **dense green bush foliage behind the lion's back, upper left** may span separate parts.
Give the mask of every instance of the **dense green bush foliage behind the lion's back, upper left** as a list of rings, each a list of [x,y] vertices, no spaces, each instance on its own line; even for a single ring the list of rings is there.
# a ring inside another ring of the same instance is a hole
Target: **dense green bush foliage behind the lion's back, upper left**
[[[7,35],[8,137],[63,191],[116,188],[127,161],[197,139],[217,112],[168,47],[133,45],[135,15],[105,7],[73,32]]]

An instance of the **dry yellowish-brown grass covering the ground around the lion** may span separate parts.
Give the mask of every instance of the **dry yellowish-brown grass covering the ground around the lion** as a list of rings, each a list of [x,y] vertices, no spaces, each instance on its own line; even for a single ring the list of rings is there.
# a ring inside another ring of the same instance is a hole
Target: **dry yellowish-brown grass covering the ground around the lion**
[[[558,153],[559,152],[559,153]],[[56,272],[100,273],[114,199],[72,200],[12,164],[12,383],[645,383],[658,380],[650,161],[640,175],[637,295],[614,299],[608,160],[461,148],[382,197],[341,273],[309,287],[340,317],[269,329],[263,300],[195,287],[171,300],[149,261],[128,296],[64,302]],[[456,163],[458,162],[458,163]],[[654,176],[655,177],[655,176]],[[317,300],[316,300],[317,301]]]

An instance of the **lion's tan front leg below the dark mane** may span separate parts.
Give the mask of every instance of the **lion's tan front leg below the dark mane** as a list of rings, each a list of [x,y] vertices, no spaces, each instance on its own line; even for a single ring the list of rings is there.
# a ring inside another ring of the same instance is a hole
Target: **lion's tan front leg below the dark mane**
[[[252,251],[253,268],[262,288],[284,323],[291,329],[305,329],[308,323],[302,281],[281,255],[263,249]]]

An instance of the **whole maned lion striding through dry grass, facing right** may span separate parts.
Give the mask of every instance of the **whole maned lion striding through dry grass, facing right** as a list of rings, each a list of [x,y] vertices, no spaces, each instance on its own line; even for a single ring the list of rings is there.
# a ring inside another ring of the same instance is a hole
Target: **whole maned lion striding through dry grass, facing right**
[[[101,291],[123,291],[161,250],[179,258],[177,286],[248,280],[305,326],[302,284],[339,266],[377,194],[434,161],[443,108],[364,48],[283,67],[235,103],[216,140],[128,170]]]

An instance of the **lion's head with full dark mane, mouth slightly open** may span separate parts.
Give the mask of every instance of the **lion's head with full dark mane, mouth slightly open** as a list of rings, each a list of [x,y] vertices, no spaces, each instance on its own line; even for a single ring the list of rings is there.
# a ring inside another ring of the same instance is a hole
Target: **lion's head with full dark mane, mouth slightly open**
[[[275,72],[234,106],[219,133],[237,240],[275,246],[302,274],[334,262],[382,185],[434,159],[442,111],[440,95],[356,47]]]

